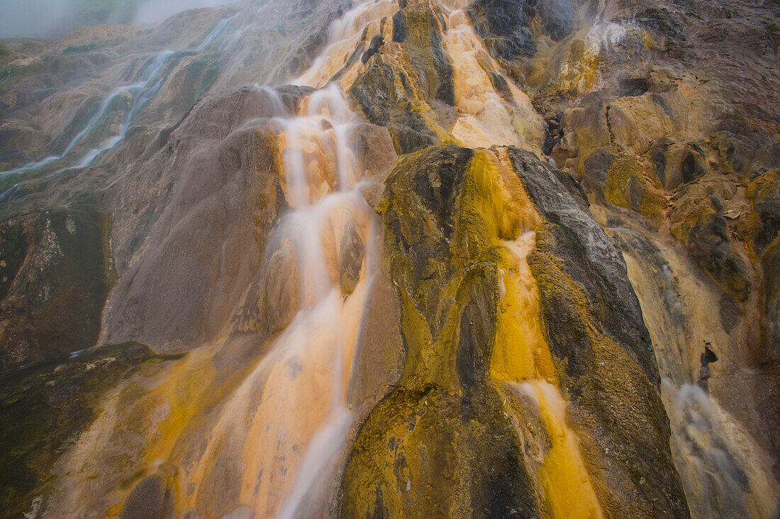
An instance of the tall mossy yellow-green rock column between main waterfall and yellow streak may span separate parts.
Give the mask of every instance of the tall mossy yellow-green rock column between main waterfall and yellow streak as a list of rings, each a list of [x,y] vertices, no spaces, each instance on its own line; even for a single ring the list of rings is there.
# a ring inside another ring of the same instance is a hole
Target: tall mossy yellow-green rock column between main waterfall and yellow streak
[[[407,358],[361,425],[343,517],[539,517],[519,438],[490,380],[500,239],[520,218],[485,151],[406,156],[386,181],[385,251]],[[435,490],[434,490],[435,489]]]

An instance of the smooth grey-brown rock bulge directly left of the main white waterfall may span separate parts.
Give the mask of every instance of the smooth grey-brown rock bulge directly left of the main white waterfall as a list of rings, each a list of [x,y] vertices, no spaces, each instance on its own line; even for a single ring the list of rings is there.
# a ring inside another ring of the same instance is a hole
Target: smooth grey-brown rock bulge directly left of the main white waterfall
[[[104,340],[192,347],[196,336],[221,329],[244,297],[286,205],[275,130],[234,131],[245,108],[261,109],[257,101],[246,89],[199,103],[172,133],[172,149],[158,151],[107,197],[117,215],[117,265],[126,275],[112,292]],[[270,116],[283,108],[263,109]],[[122,190],[137,196],[119,196]],[[140,229],[147,241],[133,255],[139,244],[129,236]],[[168,290],[157,290],[161,284]]]

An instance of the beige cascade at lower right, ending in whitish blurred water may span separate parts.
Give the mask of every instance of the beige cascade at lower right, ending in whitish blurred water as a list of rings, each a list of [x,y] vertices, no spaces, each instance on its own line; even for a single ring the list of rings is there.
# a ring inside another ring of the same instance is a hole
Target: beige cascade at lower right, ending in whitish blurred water
[[[651,247],[637,229],[609,227],[623,249],[661,374],[675,465],[694,517],[765,517],[775,507],[763,447],[711,396],[704,345],[727,342],[704,319],[709,304],[681,279],[695,276],[673,248]],[[716,357],[717,358],[717,357]]]

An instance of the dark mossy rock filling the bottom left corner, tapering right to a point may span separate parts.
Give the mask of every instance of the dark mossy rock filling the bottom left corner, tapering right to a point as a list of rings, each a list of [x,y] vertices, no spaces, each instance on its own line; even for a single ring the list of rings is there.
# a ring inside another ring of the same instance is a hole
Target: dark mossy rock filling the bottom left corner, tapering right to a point
[[[2,375],[0,464],[6,470],[0,473],[0,506],[5,514],[30,512],[50,481],[51,466],[97,417],[105,392],[154,358],[148,347],[123,344]]]

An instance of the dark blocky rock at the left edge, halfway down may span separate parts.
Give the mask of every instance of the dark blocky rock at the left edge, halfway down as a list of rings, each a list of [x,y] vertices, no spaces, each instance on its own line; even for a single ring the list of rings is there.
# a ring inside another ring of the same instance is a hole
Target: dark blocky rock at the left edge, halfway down
[[[2,371],[94,346],[108,293],[108,225],[93,208],[50,208],[2,226]]]

